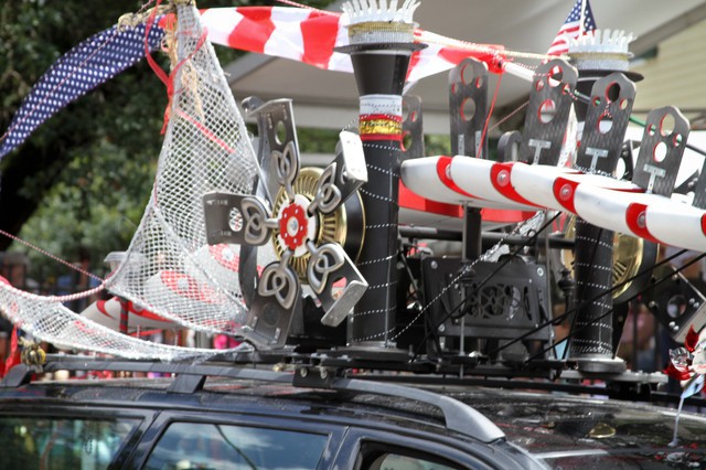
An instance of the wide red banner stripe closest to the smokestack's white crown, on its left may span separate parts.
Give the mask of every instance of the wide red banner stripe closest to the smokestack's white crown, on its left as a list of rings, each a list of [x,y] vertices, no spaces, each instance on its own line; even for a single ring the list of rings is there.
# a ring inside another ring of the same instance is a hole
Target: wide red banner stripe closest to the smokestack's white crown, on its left
[[[320,68],[328,68],[338,34],[338,15],[312,11],[309,18],[301,22],[301,36],[304,44],[301,61]]]

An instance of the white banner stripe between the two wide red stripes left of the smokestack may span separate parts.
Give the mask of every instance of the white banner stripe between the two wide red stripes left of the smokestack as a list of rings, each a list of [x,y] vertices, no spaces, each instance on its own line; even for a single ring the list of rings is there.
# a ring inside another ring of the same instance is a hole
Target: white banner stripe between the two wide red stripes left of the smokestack
[[[265,54],[301,61],[304,53],[301,22],[309,14],[310,10],[303,8],[272,7],[270,20],[275,31],[265,44]]]

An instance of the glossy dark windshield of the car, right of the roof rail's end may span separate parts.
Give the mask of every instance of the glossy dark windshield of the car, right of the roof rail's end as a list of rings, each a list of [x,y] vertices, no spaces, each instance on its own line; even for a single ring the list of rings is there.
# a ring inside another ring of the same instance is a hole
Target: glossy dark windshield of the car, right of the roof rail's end
[[[706,418],[676,409],[555,394],[460,394],[507,439],[561,469],[704,468]],[[494,399],[490,397],[494,396]]]

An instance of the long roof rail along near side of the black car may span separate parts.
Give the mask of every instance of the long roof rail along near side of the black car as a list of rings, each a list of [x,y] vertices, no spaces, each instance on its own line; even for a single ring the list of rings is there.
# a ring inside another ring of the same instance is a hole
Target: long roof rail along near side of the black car
[[[446,428],[472,437],[482,442],[492,442],[505,437],[504,432],[484,415],[454,398],[410,386],[377,383],[357,378],[336,377],[335,371],[319,366],[300,366],[295,373],[277,372],[225,363],[168,363],[100,359],[76,355],[49,354],[42,372],[56,371],[108,371],[174,374],[168,388],[172,393],[195,393],[203,388],[208,376],[236,380],[254,380],[291,384],[302,387],[323,387],[336,391],[359,392],[395,396],[437,407],[443,414]],[[15,388],[31,382],[38,367],[19,364],[0,382],[0,388]]]

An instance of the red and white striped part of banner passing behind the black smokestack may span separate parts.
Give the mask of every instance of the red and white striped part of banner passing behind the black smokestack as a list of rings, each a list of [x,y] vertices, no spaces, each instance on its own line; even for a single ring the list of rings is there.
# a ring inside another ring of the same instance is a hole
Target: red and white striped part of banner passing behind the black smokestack
[[[334,47],[349,44],[345,17],[292,7],[239,7],[201,10],[208,40],[233,49],[300,61],[319,68],[353,72],[347,54]],[[505,60],[502,45],[472,44],[416,30],[428,47],[414,53],[408,82],[448,71],[466,57],[475,57],[495,73]]]

